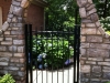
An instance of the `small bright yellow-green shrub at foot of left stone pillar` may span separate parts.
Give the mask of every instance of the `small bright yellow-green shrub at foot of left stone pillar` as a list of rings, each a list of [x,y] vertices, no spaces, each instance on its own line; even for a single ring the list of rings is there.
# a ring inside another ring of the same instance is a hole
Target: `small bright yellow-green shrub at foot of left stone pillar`
[[[15,81],[10,74],[6,74],[3,76],[0,76],[0,83],[15,83]]]

